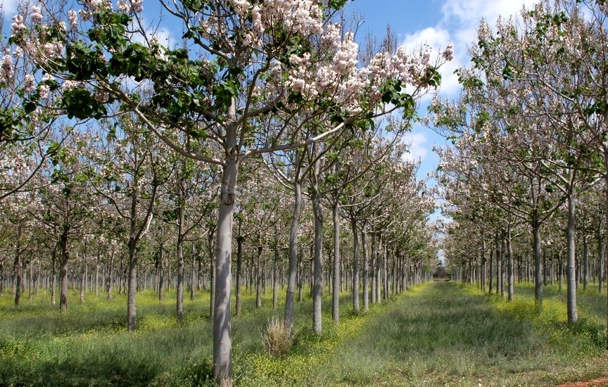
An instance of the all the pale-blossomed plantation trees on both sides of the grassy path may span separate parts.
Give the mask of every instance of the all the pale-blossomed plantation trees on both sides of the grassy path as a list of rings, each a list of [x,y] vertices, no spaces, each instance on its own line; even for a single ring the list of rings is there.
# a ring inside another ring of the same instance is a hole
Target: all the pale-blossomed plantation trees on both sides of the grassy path
[[[226,385],[243,286],[260,305],[270,283],[277,305],[285,285],[288,334],[310,286],[322,334],[324,286],[337,325],[341,289],[367,310],[428,279],[439,248],[507,300],[533,279],[539,312],[543,282],[563,277],[575,324],[578,282],[606,276],[605,2],[481,22],[460,99],[429,108],[452,141],[436,187],[403,135],[454,45],[406,52],[388,29],[360,49],[345,3],[158,1],[155,30],[141,0],[20,6],[0,65],[0,272],[15,305],[43,283],[63,312],[70,284],[118,288],[135,331],[138,289],[160,298],[175,282],[183,321],[187,284],[208,286]],[[436,196],[450,220],[431,224]]]

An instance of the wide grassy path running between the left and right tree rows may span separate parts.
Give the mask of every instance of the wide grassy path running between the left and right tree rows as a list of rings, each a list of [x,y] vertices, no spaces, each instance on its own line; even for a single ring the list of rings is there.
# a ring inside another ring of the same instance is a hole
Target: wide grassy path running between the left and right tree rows
[[[518,302],[509,310],[453,282],[419,286],[344,341],[310,385],[538,386],[607,374],[585,331],[534,317],[525,296]]]

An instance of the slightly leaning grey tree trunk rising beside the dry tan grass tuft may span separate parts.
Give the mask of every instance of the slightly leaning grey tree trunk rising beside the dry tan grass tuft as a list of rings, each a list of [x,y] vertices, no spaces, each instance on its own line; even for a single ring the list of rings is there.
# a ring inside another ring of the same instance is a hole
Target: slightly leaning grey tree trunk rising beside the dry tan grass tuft
[[[293,327],[293,298],[296,294],[296,272],[298,271],[298,234],[300,232],[300,212],[302,210],[302,185],[299,179],[293,184],[293,212],[289,230],[289,268],[287,277],[287,295],[285,297],[285,324]]]

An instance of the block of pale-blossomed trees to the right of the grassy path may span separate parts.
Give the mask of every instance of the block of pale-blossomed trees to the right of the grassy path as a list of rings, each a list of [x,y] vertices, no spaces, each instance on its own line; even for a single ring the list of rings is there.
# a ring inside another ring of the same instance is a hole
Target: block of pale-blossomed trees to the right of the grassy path
[[[429,108],[452,141],[436,173],[448,266],[508,300],[532,279],[538,310],[557,282],[570,324],[577,291],[607,280],[607,16],[604,1],[559,0],[482,22],[462,94]]]

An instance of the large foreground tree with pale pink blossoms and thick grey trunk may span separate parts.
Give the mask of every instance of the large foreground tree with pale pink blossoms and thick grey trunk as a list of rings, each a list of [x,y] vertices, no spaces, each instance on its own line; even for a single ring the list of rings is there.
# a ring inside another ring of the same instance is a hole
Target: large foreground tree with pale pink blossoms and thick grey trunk
[[[33,103],[61,89],[57,105],[76,119],[102,118],[120,103],[178,153],[222,168],[213,336],[215,376],[227,380],[232,212],[243,159],[312,144],[386,113],[382,106],[411,108],[406,85],[436,86],[439,77],[428,58],[403,50],[357,68],[352,34],[343,37],[329,23],[346,0],[159,2],[183,30],[184,46],[160,44],[139,14],[142,2],[133,0],[118,1],[118,9],[101,0],[78,9],[24,8],[11,42],[46,75],[28,97]],[[309,139],[296,136],[300,125],[257,125],[277,113],[289,122],[298,110],[323,111],[333,125]]]

